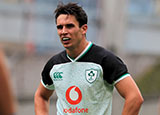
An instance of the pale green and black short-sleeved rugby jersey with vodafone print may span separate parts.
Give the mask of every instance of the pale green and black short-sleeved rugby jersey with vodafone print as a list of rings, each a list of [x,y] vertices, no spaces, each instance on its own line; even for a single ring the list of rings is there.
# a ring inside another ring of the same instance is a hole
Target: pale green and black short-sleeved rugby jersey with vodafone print
[[[41,83],[56,91],[57,115],[111,115],[114,84],[127,76],[117,56],[90,42],[76,59],[66,51],[53,56]]]

